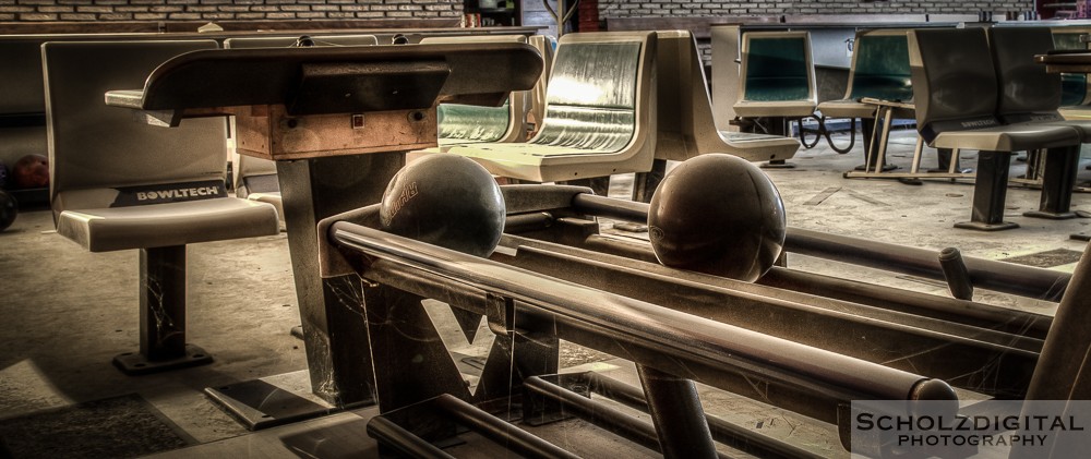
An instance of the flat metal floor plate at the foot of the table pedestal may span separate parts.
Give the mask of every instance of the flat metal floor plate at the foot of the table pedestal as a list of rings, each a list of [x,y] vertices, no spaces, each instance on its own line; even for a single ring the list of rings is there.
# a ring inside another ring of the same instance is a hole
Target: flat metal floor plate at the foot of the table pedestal
[[[307,371],[277,377],[299,378],[300,384],[273,384],[264,379],[252,379],[206,387],[205,395],[251,431],[317,418],[346,408],[328,404],[315,396],[308,397],[310,384]]]

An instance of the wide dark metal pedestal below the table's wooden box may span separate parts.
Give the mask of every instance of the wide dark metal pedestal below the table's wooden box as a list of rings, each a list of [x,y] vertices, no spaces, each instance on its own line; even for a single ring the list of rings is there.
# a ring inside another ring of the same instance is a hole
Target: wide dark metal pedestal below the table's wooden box
[[[317,222],[377,203],[405,165],[403,152],[277,161],[292,277],[303,325],[311,388],[346,406],[372,401],[371,354],[359,281],[319,275]]]

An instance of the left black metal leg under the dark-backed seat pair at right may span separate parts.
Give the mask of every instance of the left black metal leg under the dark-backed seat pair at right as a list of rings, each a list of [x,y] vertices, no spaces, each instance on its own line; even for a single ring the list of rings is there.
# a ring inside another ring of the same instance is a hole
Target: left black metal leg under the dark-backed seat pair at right
[[[1004,221],[1010,160],[1010,152],[978,152],[978,178],[973,184],[970,221],[955,224],[955,228],[979,231],[1019,228],[1018,224]]]

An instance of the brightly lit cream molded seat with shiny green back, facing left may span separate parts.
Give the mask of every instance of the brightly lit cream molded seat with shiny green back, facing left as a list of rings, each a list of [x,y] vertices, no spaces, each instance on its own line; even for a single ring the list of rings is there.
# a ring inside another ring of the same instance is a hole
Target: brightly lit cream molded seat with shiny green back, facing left
[[[561,38],[541,129],[525,143],[478,143],[421,152],[463,155],[501,177],[552,182],[644,172],[656,142],[656,34]]]

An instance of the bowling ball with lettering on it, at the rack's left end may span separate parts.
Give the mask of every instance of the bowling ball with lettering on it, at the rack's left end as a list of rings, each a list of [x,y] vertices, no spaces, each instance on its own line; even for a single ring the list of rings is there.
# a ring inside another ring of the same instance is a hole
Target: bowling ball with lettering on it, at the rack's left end
[[[391,180],[379,209],[392,233],[489,256],[504,233],[500,185],[481,165],[458,155],[429,155]]]

